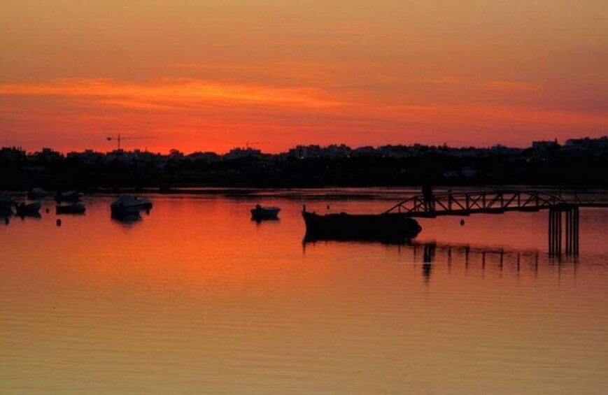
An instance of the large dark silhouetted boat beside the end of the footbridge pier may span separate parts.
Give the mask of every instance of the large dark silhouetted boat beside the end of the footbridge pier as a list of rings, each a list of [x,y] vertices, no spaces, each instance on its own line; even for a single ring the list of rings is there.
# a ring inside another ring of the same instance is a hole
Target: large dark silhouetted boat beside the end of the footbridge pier
[[[302,210],[307,240],[377,240],[395,242],[416,237],[422,227],[402,214],[326,214]]]

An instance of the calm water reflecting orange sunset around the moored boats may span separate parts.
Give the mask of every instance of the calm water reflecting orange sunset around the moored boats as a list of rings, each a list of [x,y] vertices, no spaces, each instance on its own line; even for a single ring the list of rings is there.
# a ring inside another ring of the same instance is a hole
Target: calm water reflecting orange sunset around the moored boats
[[[547,256],[546,213],[421,220],[414,246],[302,245],[302,203],[395,201],[378,197],[152,196],[123,224],[99,196],[62,227],[13,217],[0,392],[608,392],[608,210],[581,210],[578,259]],[[281,220],[252,222],[257,202]]]

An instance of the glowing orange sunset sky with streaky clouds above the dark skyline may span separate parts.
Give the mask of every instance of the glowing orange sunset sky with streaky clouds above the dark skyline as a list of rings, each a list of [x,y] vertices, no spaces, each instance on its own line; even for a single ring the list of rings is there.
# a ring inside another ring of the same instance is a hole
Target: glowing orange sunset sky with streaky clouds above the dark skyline
[[[608,134],[606,0],[3,0],[0,146]]]

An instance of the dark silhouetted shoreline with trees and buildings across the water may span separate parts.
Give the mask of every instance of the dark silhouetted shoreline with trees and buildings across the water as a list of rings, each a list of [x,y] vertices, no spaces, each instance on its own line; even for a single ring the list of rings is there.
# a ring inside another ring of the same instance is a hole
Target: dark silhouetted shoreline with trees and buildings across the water
[[[297,145],[267,154],[233,148],[225,154],[171,150],[26,152],[0,148],[3,188],[40,185],[416,185],[427,179],[453,184],[588,183],[605,185],[608,136],[534,141],[528,148],[495,145]]]

